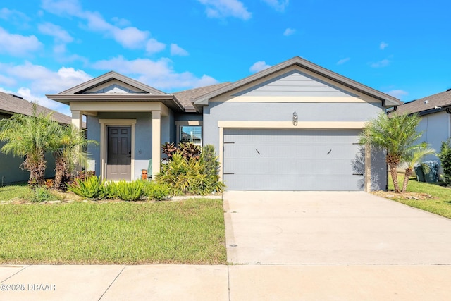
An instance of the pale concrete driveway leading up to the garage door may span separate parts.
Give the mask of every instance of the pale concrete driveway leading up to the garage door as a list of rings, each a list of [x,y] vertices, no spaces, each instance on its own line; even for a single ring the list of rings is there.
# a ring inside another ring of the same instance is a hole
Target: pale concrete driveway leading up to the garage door
[[[365,192],[228,191],[223,199],[231,263],[451,264],[450,219]]]

